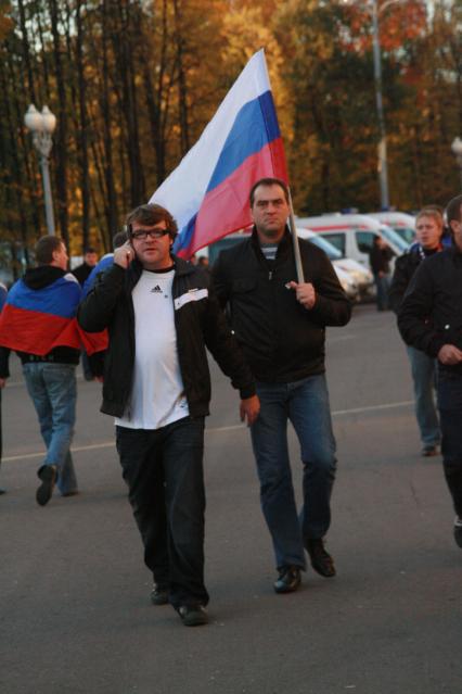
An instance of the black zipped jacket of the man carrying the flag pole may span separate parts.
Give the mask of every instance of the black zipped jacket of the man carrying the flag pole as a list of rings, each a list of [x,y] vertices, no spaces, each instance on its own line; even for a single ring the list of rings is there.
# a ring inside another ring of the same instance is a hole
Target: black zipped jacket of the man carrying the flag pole
[[[257,232],[222,251],[213,267],[221,305],[257,380],[290,382],[322,374],[325,326],[348,323],[351,307],[321,249],[299,239],[305,281],[312,282],[316,305],[307,311],[287,282],[297,280],[292,239],[286,230],[277,257],[268,262]]]

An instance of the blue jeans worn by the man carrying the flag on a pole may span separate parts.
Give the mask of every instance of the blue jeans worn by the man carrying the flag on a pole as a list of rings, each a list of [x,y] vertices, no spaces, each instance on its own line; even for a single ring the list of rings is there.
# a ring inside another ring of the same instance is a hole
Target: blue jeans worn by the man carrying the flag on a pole
[[[304,543],[323,538],[331,525],[335,439],[323,374],[293,383],[257,383],[261,409],[252,427],[261,508],[277,567],[305,568]],[[287,420],[297,434],[304,465],[304,504],[295,505],[287,447]]]

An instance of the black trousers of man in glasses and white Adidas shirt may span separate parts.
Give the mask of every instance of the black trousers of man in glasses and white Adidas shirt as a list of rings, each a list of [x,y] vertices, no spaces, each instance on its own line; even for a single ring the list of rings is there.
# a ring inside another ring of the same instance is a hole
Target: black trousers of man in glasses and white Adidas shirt
[[[204,418],[116,427],[129,500],[155,582],[174,607],[208,603],[204,585]]]

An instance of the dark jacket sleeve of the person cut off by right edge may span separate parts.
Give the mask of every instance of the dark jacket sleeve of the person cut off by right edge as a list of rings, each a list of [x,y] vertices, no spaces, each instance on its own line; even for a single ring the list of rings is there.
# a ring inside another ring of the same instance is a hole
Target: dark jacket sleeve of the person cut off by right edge
[[[434,302],[434,282],[423,261],[414,273],[398,310],[398,328],[407,344],[436,357],[445,344],[429,320]]]

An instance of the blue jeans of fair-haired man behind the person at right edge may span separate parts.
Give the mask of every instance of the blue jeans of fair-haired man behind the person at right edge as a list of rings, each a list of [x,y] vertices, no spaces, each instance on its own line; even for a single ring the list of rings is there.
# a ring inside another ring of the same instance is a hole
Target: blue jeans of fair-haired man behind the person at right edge
[[[441,440],[433,391],[436,387],[435,359],[415,348],[408,346],[414,383],[415,417],[424,446],[437,445]]]

